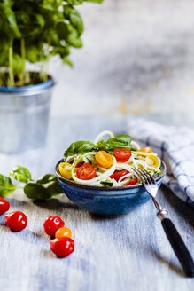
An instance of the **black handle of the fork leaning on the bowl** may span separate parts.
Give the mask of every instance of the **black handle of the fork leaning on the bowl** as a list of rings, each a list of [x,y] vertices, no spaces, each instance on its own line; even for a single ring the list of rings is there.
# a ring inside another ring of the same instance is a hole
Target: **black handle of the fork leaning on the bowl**
[[[169,218],[163,218],[161,224],[167,234],[171,247],[175,251],[175,255],[182,264],[182,268],[188,277],[194,277],[194,262],[190,256],[190,252],[185,246],[182,237],[177,232],[175,225]]]

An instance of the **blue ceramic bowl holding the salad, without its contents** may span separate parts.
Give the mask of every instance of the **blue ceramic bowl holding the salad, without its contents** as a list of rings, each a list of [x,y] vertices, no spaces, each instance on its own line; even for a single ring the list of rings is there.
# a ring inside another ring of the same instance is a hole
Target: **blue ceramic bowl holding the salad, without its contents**
[[[144,187],[129,185],[126,187],[98,187],[80,185],[62,177],[58,170],[58,161],[55,170],[60,186],[66,196],[77,206],[92,214],[101,216],[120,216],[135,210],[151,199]],[[158,187],[166,174],[166,165],[161,162],[161,174],[156,177]]]

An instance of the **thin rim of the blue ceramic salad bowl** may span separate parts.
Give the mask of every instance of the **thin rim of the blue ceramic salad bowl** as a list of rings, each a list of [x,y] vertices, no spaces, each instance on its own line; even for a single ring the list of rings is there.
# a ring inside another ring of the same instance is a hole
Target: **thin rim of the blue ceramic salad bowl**
[[[99,187],[99,186],[95,186],[95,185],[82,185],[82,184],[79,184],[79,183],[76,183],[76,182],[72,182],[68,179],[66,179],[65,177],[62,177],[59,173],[59,170],[58,170],[58,165],[60,162],[63,162],[64,160],[61,159],[60,161],[57,162],[56,166],[55,166],[55,173],[56,175],[58,176],[58,178],[60,178],[61,180],[63,180],[64,182],[66,182],[66,184],[69,184],[69,185],[76,185],[77,187],[80,187],[80,188],[87,188],[87,189],[93,189],[93,190],[105,190],[105,191],[114,191],[114,190],[124,190],[124,189],[136,189],[136,188],[140,188],[142,186],[142,183],[141,184],[138,184],[138,185],[128,185],[128,186],[117,186],[117,187],[113,187],[113,186],[107,186],[107,187]],[[163,168],[163,170],[161,171],[161,173],[159,174],[159,176],[157,176],[155,178],[156,181],[158,181],[161,177],[164,177],[167,173],[167,166],[165,164],[164,161],[161,160],[161,166],[160,168]]]

